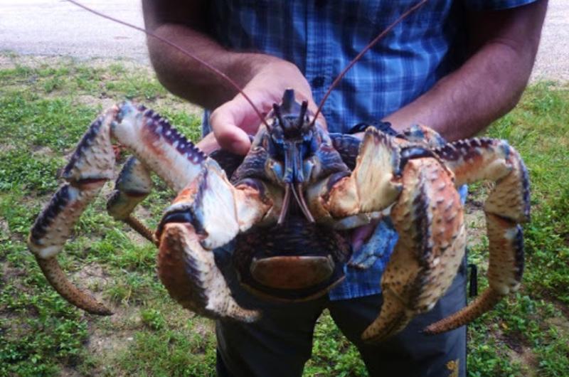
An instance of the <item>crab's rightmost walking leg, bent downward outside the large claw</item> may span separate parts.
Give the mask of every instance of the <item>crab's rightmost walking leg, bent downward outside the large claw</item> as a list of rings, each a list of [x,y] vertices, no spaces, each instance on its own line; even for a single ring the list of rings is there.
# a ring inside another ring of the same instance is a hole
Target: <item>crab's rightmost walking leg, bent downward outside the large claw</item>
[[[454,171],[457,186],[488,179],[496,186],[484,203],[489,238],[489,288],[468,307],[425,329],[427,334],[467,324],[487,312],[506,294],[519,289],[523,275],[523,234],[529,221],[529,181],[519,154],[505,141],[471,139],[435,152]]]

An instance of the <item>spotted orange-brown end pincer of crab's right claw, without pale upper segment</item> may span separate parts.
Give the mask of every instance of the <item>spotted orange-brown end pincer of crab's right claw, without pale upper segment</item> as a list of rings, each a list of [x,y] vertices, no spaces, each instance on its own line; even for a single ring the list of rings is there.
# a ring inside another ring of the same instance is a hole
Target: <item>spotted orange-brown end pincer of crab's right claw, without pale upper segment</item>
[[[440,163],[431,158],[408,161],[402,183],[403,192],[390,213],[402,236],[383,273],[383,306],[363,332],[365,341],[393,336],[413,317],[432,309],[464,256],[460,198]]]

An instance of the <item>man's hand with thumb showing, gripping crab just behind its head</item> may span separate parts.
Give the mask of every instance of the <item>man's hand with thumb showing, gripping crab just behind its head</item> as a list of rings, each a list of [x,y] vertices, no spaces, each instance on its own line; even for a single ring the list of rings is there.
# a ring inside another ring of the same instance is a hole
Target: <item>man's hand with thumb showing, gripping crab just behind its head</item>
[[[280,103],[282,93],[289,88],[294,89],[297,101],[308,100],[309,111],[316,112],[309,83],[296,65],[285,60],[271,58],[261,65],[243,91],[262,115],[267,115],[272,104]],[[326,124],[323,117],[320,122]],[[255,134],[261,123],[242,94],[218,107],[210,117],[211,129],[220,146],[236,154],[248,152],[251,145],[248,134]]]

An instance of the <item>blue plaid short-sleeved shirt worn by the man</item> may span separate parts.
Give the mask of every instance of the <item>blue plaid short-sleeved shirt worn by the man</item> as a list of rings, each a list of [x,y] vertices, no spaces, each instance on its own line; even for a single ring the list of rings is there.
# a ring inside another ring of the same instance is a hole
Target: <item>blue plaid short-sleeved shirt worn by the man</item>
[[[534,0],[432,0],[405,18],[346,74],[324,105],[331,132],[381,120],[400,109],[464,61],[467,10],[508,9]],[[209,33],[223,46],[262,51],[295,63],[318,103],[332,81],[373,38],[418,0],[217,0]],[[208,112],[203,132],[209,131]],[[465,193],[464,193],[465,194]],[[331,299],[381,292],[381,272],[397,241],[390,223],[378,225],[375,250],[358,250],[366,270],[346,267]]]

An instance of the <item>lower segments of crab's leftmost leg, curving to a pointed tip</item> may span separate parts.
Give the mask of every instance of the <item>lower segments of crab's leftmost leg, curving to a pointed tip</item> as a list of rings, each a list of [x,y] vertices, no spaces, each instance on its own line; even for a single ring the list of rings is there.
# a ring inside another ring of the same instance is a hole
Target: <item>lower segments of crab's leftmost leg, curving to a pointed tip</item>
[[[73,225],[100,188],[112,178],[115,154],[110,143],[112,114],[99,117],[78,144],[63,171],[68,184],[53,195],[31,228],[28,247],[53,288],[76,307],[93,314],[112,314],[90,294],[73,286],[65,277],[56,259]]]

